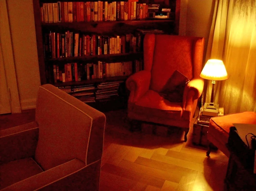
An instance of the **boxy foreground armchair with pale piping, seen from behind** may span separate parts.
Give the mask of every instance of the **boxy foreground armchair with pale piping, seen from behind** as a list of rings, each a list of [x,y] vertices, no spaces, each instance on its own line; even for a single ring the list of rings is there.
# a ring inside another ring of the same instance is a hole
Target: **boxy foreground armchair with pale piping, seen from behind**
[[[106,117],[45,84],[35,121],[0,131],[0,190],[98,190]]]

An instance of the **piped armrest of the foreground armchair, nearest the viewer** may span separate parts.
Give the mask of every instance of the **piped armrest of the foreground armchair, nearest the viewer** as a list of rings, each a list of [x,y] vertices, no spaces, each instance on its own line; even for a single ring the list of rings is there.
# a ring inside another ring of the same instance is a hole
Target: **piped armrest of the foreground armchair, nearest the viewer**
[[[12,184],[1,191],[96,190],[86,187],[88,187],[88,184],[95,184],[95,178],[97,176],[99,178],[99,170],[100,160],[86,165],[79,159],[73,159],[33,177]]]

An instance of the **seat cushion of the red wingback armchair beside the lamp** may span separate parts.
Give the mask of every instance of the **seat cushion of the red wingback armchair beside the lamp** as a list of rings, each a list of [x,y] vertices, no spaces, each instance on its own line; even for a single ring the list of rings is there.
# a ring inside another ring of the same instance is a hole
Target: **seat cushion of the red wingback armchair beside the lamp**
[[[170,102],[158,92],[148,90],[132,108],[133,112],[179,120],[182,115],[182,103]]]

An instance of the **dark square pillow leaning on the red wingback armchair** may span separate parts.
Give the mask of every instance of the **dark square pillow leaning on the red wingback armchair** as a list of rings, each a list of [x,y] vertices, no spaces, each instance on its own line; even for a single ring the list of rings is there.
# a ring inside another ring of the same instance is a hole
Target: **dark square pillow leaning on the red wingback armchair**
[[[189,79],[180,71],[175,70],[159,94],[170,102],[182,102],[187,82],[189,82]]]

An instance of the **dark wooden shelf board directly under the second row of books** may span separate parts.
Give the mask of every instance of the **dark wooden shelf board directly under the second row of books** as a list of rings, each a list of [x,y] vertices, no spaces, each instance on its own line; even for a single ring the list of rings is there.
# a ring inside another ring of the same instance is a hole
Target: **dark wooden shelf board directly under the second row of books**
[[[54,58],[45,59],[45,61],[56,63],[56,62],[78,62],[78,61],[89,61],[89,60],[125,60],[127,58],[135,59],[143,56],[143,52],[131,52],[131,53],[118,53],[118,54],[101,54],[101,55],[91,55],[82,57],[67,57],[67,58]]]

